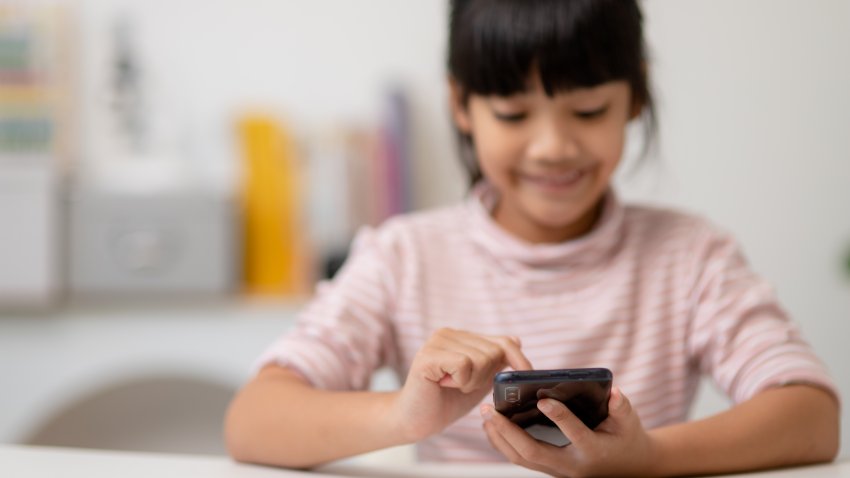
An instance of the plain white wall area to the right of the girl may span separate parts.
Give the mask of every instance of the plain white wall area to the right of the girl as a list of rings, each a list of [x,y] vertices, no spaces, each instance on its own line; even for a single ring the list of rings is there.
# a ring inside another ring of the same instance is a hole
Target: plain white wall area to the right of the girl
[[[846,399],[850,2],[670,0],[645,10],[662,157],[655,174],[625,183],[626,195],[731,230]],[[696,413],[721,405],[708,393]]]

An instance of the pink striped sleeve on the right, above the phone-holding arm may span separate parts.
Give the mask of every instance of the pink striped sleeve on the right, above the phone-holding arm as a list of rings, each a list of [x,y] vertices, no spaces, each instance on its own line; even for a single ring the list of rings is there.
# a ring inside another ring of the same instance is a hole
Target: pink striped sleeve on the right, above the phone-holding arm
[[[700,242],[688,345],[701,370],[736,403],[790,383],[817,385],[838,397],[824,364],[735,241],[706,228]]]

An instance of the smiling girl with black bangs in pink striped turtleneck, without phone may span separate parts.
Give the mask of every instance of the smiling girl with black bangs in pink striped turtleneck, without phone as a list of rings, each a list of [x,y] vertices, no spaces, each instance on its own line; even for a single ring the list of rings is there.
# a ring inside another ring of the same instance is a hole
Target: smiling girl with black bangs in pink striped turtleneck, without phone
[[[423,460],[557,476],[834,458],[836,388],[735,242],[612,190],[627,124],[653,122],[642,35],[634,1],[452,2],[471,194],[359,234],[234,400],[237,460],[311,467],[414,442]],[[403,387],[366,391],[385,365]],[[538,442],[493,409],[506,367],[607,367],[609,417],[589,430],[541,400],[572,444]],[[735,405],[686,422],[701,373]]]

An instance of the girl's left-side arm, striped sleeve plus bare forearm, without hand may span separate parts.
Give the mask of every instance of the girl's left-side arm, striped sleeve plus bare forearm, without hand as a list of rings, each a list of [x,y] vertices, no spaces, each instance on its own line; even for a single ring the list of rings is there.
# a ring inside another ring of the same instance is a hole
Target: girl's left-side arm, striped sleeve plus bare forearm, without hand
[[[227,412],[233,458],[307,468],[409,441],[390,416],[393,394],[354,391],[368,387],[394,349],[388,317],[402,283],[402,261],[391,252],[398,231],[359,231],[342,269],[259,359],[275,365],[247,383]]]

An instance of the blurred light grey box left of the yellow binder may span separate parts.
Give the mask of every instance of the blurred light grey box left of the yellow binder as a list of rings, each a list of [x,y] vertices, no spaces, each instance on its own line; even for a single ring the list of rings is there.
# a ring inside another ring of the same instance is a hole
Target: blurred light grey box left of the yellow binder
[[[235,202],[208,192],[75,191],[69,288],[76,297],[210,295],[240,279]]]

